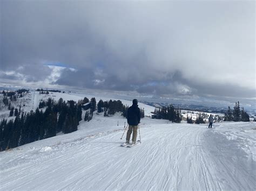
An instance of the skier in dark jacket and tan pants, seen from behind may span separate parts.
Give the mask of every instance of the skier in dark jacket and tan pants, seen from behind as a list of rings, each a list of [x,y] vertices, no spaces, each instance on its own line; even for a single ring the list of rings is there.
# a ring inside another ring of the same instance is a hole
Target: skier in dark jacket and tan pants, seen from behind
[[[132,106],[127,111],[127,123],[129,124],[129,130],[126,134],[126,143],[130,142],[130,137],[132,134],[132,144],[135,144],[137,139],[138,124],[140,123],[140,109],[138,108],[138,100],[136,99],[132,101]]]

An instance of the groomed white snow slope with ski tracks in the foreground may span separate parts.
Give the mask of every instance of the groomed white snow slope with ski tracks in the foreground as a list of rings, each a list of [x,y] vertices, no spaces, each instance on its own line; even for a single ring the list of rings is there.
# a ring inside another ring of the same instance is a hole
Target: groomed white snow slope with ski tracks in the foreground
[[[255,153],[241,145],[249,140],[235,139],[235,131],[233,139],[227,135],[239,124],[253,128],[146,122],[140,125],[142,144],[132,148],[120,146],[119,128],[1,152],[0,190],[255,190]]]

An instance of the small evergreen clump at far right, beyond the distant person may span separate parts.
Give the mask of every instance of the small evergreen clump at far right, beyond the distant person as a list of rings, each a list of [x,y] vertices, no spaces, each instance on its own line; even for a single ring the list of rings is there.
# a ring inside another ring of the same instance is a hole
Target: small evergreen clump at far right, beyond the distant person
[[[231,108],[228,106],[227,112],[224,116],[224,121],[250,122],[250,117],[243,107],[240,108],[240,103],[238,101],[238,102],[235,102],[233,110],[231,110]]]

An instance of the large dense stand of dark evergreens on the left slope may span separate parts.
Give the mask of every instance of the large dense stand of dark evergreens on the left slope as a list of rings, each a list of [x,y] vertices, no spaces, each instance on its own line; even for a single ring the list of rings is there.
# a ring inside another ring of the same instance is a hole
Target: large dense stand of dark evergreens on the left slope
[[[46,110],[18,112],[15,120],[3,119],[0,124],[0,151],[27,143],[56,136],[56,133],[77,131],[82,120],[82,107],[74,101],[66,104],[62,98],[57,103],[51,98],[46,102]]]

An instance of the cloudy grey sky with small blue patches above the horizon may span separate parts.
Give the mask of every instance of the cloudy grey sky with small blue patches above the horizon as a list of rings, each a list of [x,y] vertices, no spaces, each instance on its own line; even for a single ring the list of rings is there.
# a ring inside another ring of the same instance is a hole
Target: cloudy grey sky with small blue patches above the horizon
[[[0,85],[255,103],[254,1],[0,1]]]

